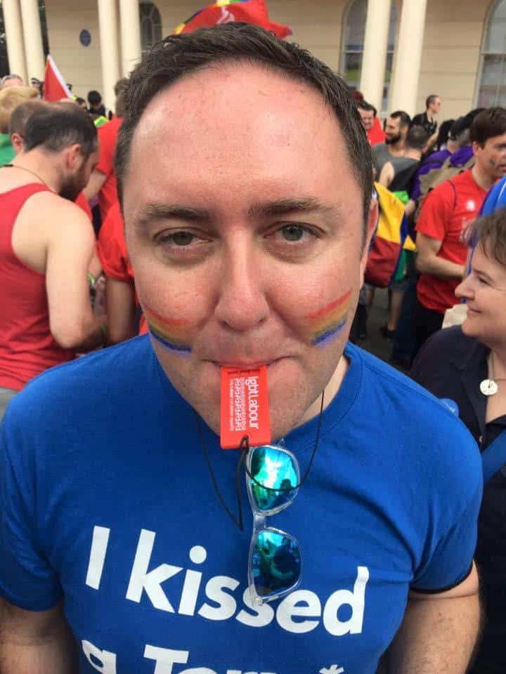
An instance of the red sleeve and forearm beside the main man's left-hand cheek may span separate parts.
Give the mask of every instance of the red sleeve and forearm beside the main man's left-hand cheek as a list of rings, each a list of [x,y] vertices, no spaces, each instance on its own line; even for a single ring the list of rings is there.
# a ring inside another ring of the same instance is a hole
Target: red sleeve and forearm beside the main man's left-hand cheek
[[[124,239],[124,222],[118,201],[110,207],[100,228],[97,254],[105,275],[105,314],[108,317],[108,343],[117,344],[136,333],[138,301]],[[138,333],[148,331],[144,315]]]

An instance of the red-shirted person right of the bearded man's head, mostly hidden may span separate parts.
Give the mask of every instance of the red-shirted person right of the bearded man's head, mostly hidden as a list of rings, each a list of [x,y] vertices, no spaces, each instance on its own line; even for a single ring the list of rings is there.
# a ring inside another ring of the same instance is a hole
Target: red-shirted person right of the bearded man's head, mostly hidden
[[[123,78],[117,81],[115,85],[116,114],[111,121],[107,124],[103,124],[103,126],[100,126],[98,129],[98,140],[100,143],[98,164],[95,169],[93,169],[89,183],[84,190],[86,199],[89,201],[98,196],[102,222],[105,220],[105,216],[107,216],[112,204],[117,201],[117,185],[113,159],[116,149],[117,134],[123,121],[124,91],[127,84],[128,79]]]

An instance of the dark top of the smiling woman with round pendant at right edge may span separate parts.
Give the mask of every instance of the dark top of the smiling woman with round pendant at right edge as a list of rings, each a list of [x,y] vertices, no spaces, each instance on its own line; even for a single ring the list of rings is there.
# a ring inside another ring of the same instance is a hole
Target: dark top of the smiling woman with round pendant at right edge
[[[439,398],[458,404],[459,416],[481,449],[506,428],[506,416],[488,424],[486,397],[479,389],[488,376],[488,348],[465,336],[460,326],[435,333],[418,353],[411,376]],[[430,420],[427,420],[430,423]],[[478,520],[476,564],[486,622],[473,674],[506,671],[506,466],[484,488]]]

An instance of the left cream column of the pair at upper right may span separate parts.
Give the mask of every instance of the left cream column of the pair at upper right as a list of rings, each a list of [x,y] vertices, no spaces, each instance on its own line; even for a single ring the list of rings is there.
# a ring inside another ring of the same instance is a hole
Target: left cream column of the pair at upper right
[[[365,100],[381,113],[387,65],[391,0],[369,0],[365,20],[360,90]]]

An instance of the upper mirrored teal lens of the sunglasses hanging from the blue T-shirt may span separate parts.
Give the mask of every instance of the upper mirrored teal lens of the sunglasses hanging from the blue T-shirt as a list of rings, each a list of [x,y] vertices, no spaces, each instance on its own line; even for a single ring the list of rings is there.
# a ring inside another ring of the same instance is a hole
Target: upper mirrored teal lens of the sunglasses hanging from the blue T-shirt
[[[254,447],[248,460],[254,477],[249,477],[249,489],[257,509],[265,513],[288,505],[299,484],[299,467],[292,454],[279,447]]]

